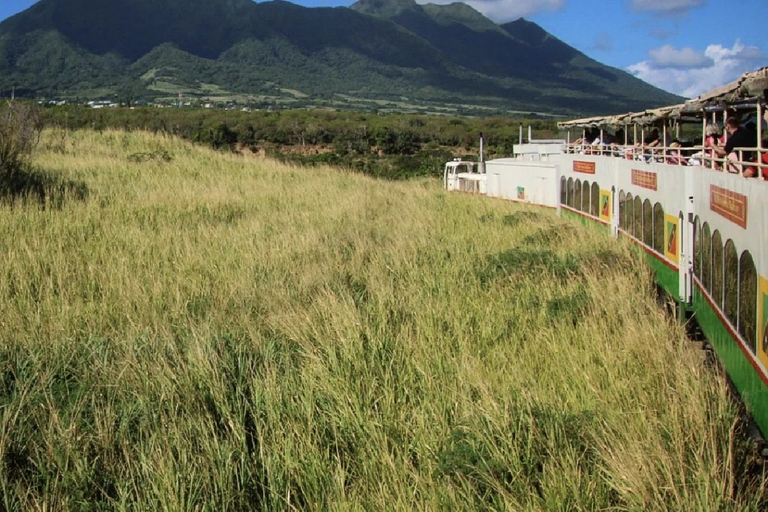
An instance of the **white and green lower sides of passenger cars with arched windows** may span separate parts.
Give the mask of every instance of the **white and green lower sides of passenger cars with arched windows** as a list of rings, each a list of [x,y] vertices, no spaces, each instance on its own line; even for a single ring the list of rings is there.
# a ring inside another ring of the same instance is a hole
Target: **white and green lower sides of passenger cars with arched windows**
[[[647,253],[768,435],[768,183],[618,157],[553,160],[561,211],[609,226]]]

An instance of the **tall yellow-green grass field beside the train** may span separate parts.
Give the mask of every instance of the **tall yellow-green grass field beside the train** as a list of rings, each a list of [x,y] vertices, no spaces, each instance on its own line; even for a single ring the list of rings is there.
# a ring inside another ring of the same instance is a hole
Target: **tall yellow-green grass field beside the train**
[[[141,133],[34,165],[0,207],[2,509],[765,505],[723,378],[601,232]]]

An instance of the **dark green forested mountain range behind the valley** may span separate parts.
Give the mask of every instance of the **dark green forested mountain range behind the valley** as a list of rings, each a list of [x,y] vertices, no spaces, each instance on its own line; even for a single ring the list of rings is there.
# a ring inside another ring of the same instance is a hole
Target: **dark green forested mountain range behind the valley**
[[[28,96],[249,96],[591,114],[681,98],[538,25],[463,3],[40,0],[0,23],[0,91]]]

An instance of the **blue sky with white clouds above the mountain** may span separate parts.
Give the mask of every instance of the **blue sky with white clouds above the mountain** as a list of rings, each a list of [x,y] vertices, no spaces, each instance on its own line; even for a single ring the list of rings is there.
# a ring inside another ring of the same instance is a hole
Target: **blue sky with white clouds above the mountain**
[[[0,20],[36,0],[0,0]],[[109,1],[109,0],[105,0]],[[194,1],[194,0],[190,0]],[[292,0],[307,7],[352,0]],[[417,0],[451,3],[453,0]],[[497,23],[519,17],[593,59],[688,98],[768,66],[768,0],[465,0]]]

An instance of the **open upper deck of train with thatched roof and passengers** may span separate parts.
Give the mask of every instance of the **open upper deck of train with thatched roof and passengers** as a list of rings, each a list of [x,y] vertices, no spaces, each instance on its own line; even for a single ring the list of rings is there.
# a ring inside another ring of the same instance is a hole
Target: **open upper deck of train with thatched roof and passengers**
[[[565,132],[567,153],[699,166],[764,181],[766,103],[768,68],[761,68],[679,105],[574,119],[558,127]],[[737,145],[726,152],[730,138]]]

